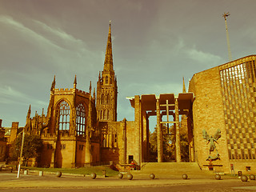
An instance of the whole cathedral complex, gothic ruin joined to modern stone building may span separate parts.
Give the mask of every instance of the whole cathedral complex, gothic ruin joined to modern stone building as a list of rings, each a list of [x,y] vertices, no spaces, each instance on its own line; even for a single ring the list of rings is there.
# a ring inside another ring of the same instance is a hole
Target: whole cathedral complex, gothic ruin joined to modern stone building
[[[78,167],[150,161],[149,118],[157,116],[158,162],[163,162],[163,124],[175,134],[176,162],[182,162],[180,131],[186,130],[190,162],[202,170],[256,172],[256,55],[194,74],[180,94],[146,94],[128,98],[134,121],[117,121],[118,85],[112,57],[111,28],[97,92],[50,88],[47,114],[26,117],[26,134],[44,143],[38,166]],[[166,90],[166,92],[169,92]],[[182,122],[180,122],[182,115]],[[165,118],[163,118],[166,116]],[[185,117],[185,118],[184,118]],[[165,121],[163,121],[165,119]],[[9,143],[20,129],[14,122]],[[173,126],[172,126],[173,125]],[[175,163],[175,162],[174,162]]]

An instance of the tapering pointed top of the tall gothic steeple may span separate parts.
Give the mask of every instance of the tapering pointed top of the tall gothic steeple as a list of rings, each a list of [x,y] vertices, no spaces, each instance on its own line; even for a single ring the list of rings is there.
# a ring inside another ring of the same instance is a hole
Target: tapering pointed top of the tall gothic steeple
[[[109,35],[108,35],[107,43],[106,43],[106,55],[105,55],[105,62],[104,62],[104,70],[105,71],[113,71],[111,22],[110,22]]]

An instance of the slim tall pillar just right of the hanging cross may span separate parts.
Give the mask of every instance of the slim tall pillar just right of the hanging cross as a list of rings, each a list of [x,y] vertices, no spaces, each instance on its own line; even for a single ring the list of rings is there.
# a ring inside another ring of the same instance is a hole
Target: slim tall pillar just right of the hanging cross
[[[178,98],[175,98],[175,124],[176,124],[176,162],[181,162],[181,142],[179,134]]]

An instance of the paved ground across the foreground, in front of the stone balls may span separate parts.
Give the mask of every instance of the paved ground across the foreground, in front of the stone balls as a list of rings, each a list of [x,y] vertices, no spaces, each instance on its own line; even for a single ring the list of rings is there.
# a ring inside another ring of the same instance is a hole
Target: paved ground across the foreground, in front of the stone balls
[[[196,186],[207,185],[208,186],[230,186],[232,191],[251,190],[256,191],[256,181],[242,182],[239,178],[231,176],[222,176],[222,180],[216,180],[214,174],[208,175],[189,175],[189,179],[182,179],[182,176],[178,175],[156,175],[154,180],[149,178],[146,174],[134,174],[132,180],[124,178],[103,178],[97,177],[91,179],[90,176],[82,177],[72,174],[64,174],[61,178],[57,178],[54,174],[44,174],[39,176],[38,172],[24,175],[21,174],[20,178],[17,178],[17,173],[0,172],[0,191],[1,189],[25,189],[25,188],[37,188],[37,189],[53,189],[53,188],[109,188],[109,187],[157,187],[157,186]],[[197,191],[197,190],[194,190]],[[206,190],[210,191],[210,190]],[[214,191],[214,190],[211,190]]]

